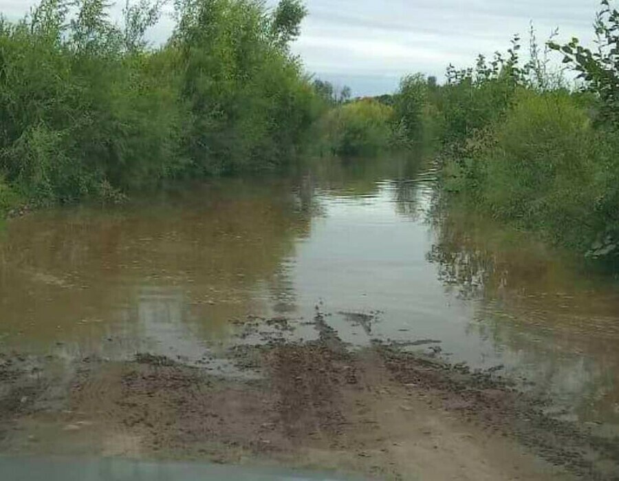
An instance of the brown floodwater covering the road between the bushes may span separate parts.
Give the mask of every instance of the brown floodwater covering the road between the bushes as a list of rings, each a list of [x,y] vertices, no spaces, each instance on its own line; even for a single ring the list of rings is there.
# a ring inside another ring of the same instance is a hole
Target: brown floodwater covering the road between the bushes
[[[12,220],[0,350],[192,361],[248,316],[310,339],[319,309],[351,344],[436,341],[415,348],[502,365],[558,415],[619,432],[618,286],[435,199],[418,162],[332,161]]]

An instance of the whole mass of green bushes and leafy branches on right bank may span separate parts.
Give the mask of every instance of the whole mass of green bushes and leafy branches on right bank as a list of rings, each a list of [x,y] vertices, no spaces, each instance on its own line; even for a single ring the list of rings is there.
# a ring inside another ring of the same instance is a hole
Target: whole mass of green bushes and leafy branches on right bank
[[[444,85],[406,78],[392,101],[411,142],[439,146],[450,202],[617,268],[619,12],[607,1],[595,28],[595,52],[540,47],[532,30],[528,55],[514,37],[506,54],[450,65]]]

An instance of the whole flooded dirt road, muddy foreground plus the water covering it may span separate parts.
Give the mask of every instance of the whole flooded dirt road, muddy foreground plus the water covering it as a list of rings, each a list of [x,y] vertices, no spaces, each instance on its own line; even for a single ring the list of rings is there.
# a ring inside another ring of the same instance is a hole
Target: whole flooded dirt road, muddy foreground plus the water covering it
[[[617,286],[433,186],[332,164],[12,220],[0,451],[614,479]]]

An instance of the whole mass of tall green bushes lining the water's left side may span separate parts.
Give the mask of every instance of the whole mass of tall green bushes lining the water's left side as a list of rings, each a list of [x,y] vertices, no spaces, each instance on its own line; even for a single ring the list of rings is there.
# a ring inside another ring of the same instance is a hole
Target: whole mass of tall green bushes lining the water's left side
[[[305,10],[177,0],[173,38],[149,50],[165,0],[43,0],[0,21],[0,175],[32,202],[118,199],[185,175],[283,164],[316,95],[289,53]]]

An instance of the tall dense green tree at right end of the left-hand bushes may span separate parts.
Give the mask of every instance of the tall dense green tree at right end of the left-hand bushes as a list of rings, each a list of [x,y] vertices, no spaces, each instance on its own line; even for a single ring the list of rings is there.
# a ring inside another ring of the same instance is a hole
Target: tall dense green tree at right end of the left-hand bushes
[[[172,44],[191,111],[186,155],[196,169],[285,162],[310,125],[313,92],[282,36],[270,34],[280,28],[277,13],[266,17],[261,3],[248,0],[194,0],[178,14]]]

